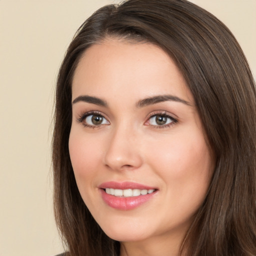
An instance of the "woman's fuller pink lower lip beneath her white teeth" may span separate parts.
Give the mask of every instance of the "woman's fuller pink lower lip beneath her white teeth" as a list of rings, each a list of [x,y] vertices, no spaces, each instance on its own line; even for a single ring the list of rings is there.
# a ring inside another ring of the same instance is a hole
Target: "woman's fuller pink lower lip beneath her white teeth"
[[[100,189],[101,196],[104,202],[115,209],[120,210],[130,210],[138,207],[139,205],[149,201],[154,195],[155,192],[145,195],[138,195],[138,196],[130,196],[130,197],[121,197],[121,196],[114,196],[111,194],[107,194],[104,189]]]

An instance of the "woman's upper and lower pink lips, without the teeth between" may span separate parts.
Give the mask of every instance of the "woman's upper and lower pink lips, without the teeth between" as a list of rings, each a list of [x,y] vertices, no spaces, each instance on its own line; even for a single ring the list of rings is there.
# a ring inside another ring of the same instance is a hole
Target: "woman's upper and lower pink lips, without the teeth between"
[[[130,197],[121,197],[121,196],[114,196],[111,194],[107,194],[105,192],[105,188],[114,188],[114,189],[156,189],[154,187],[149,187],[143,184],[135,183],[135,182],[115,182],[109,181],[104,182],[99,185],[100,192],[102,199],[104,202],[115,209],[120,210],[130,210],[133,208],[138,207],[139,205],[143,204],[144,202],[149,201],[156,193],[155,190],[152,193],[145,194],[145,195],[138,195],[138,196],[130,196]]]

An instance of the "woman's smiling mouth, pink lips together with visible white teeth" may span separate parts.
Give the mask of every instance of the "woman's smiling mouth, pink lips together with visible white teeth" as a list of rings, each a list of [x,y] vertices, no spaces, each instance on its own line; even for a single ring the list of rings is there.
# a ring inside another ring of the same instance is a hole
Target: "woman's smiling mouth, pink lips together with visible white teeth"
[[[130,210],[149,201],[157,189],[135,182],[109,181],[99,185],[103,201],[110,207]]]

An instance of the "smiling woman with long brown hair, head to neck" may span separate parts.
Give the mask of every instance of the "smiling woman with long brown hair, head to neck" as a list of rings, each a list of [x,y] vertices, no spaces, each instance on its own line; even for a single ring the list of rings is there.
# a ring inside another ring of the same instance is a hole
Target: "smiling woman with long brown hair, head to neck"
[[[231,32],[185,0],[107,5],[59,70],[65,255],[256,255],[256,100]]]

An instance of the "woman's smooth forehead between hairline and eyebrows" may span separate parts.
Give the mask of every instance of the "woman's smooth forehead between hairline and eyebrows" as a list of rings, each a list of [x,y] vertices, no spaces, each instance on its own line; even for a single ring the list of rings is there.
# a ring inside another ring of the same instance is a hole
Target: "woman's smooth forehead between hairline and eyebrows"
[[[181,72],[165,51],[152,43],[120,39],[90,46],[74,72],[72,98],[109,92],[134,99],[171,93],[192,101]]]

